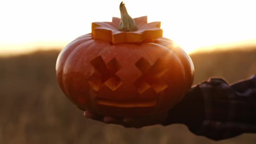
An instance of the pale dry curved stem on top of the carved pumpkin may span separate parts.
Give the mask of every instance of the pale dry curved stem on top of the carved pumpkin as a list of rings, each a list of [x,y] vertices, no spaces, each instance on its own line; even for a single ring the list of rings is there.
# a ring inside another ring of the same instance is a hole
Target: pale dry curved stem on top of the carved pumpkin
[[[125,3],[121,2],[119,9],[121,13],[121,20],[118,26],[118,30],[125,31],[125,32],[131,32],[131,31],[137,30],[135,20],[133,20],[131,16],[129,16],[129,14],[127,13]]]

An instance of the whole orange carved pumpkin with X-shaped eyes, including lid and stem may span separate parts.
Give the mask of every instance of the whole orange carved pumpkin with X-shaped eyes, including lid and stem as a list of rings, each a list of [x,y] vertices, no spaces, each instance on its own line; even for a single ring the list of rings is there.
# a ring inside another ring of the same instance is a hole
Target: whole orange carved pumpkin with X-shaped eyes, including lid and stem
[[[138,117],[174,107],[190,89],[194,65],[160,22],[132,19],[120,4],[121,19],[92,23],[92,33],[59,53],[59,86],[78,108],[100,115]]]

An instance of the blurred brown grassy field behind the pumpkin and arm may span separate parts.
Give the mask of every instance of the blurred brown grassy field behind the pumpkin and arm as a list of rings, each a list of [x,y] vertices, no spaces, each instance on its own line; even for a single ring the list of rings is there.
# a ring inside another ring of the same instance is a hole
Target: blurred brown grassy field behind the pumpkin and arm
[[[123,128],[85,119],[55,77],[59,51],[0,58],[0,144],[256,144],[256,134],[211,141],[184,125]],[[256,73],[256,48],[190,55],[197,84],[210,76],[236,82]]]

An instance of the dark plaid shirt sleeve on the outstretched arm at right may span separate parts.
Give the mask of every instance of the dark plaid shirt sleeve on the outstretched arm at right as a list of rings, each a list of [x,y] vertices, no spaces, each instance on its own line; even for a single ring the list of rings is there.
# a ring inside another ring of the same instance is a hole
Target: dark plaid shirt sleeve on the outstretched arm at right
[[[191,88],[184,99],[169,111],[166,124],[186,124],[192,133],[215,141],[256,133],[256,75],[232,85],[210,78]],[[185,115],[177,116],[181,112]]]

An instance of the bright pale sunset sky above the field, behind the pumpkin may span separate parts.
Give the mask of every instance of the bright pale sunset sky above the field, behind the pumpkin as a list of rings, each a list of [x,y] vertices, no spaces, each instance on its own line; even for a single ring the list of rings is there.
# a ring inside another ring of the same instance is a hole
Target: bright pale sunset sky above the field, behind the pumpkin
[[[121,0],[2,0],[0,55],[63,48],[91,32],[91,23],[120,17]],[[167,3],[168,2],[168,3]],[[186,52],[256,43],[255,0],[124,0],[131,17],[161,21],[164,37]]]

